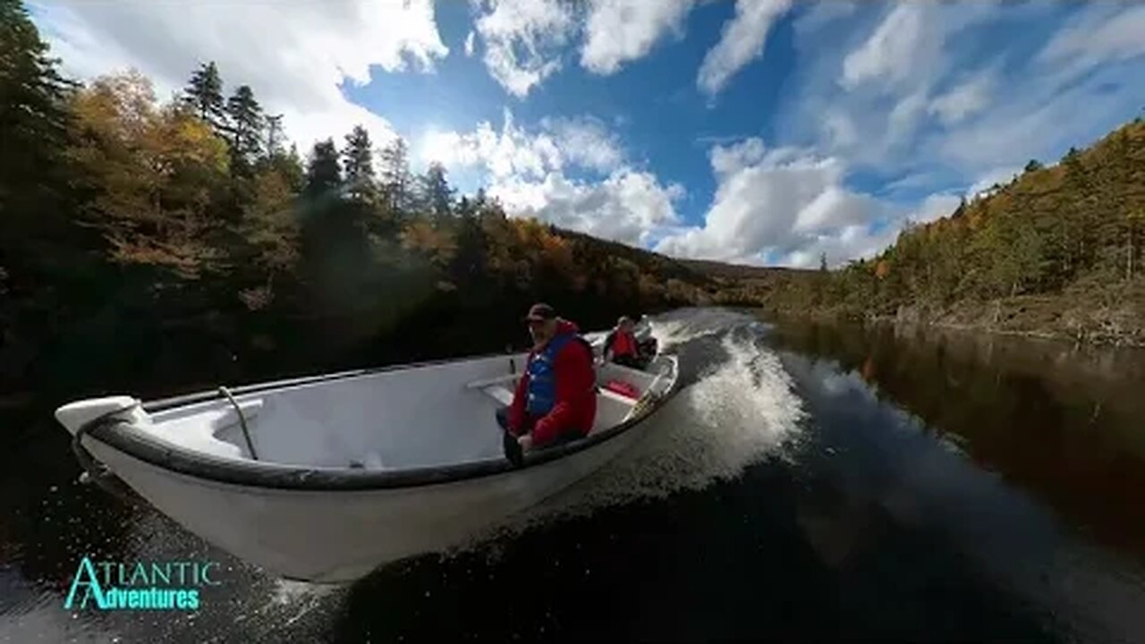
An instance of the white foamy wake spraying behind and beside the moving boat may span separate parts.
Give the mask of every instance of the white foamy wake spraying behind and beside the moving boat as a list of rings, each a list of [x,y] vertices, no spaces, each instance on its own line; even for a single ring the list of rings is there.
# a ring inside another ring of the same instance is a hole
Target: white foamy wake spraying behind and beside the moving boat
[[[662,348],[704,356],[708,364],[701,363],[690,384],[647,421],[641,442],[589,479],[450,553],[601,508],[702,489],[735,478],[752,463],[784,457],[804,410],[779,358],[763,344],[764,325],[729,312],[702,312],[655,320],[653,329]],[[492,547],[488,553],[496,557],[498,550]]]

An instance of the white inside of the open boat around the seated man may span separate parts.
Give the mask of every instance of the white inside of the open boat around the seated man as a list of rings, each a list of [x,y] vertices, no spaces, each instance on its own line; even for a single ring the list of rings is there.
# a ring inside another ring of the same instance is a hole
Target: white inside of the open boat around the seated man
[[[133,425],[190,450],[268,464],[404,470],[503,458],[496,411],[512,401],[524,362],[504,355],[311,380],[136,414]],[[598,364],[592,431],[625,422],[676,377],[673,356],[645,370]]]

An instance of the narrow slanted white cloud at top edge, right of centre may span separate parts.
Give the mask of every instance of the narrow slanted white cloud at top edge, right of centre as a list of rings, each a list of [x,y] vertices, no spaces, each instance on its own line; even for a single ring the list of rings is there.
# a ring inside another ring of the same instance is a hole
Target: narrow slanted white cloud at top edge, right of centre
[[[696,85],[709,95],[718,94],[740,69],[763,55],[767,31],[790,6],[791,0],[736,0],[735,17],[704,56]]]

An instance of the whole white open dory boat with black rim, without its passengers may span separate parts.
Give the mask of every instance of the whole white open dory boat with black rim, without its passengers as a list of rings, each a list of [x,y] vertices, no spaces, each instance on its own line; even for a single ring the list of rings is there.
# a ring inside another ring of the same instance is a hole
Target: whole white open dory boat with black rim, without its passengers
[[[514,468],[493,417],[524,354],[349,371],[156,402],[72,402],[56,418],[85,469],[271,574],[349,581],[459,544],[592,473],[677,391],[676,356],[606,364],[584,439]],[[121,484],[119,484],[121,485]]]

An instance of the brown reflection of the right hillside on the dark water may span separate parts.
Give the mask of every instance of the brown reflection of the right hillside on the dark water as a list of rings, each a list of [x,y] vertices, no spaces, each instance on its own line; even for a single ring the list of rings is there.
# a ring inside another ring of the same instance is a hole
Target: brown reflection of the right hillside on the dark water
[[[1145,352],[782,322],[773,341],[837,362],[1075,529],[1145,556]]]

